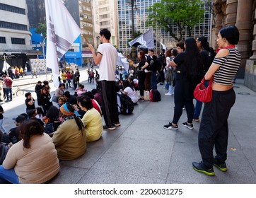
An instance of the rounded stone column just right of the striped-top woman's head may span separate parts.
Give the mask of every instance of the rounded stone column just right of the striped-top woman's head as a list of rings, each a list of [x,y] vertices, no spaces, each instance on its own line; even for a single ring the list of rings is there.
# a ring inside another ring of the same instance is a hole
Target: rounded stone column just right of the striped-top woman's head
[[[237,47],[242,56],[237,77],[243,78],[246,60],[249,59],[250,52],[252,50],[252,0],[247,0],[246,4],[244,0],[238,0],[238,13],[235,26],[238,28],[240,33]]]

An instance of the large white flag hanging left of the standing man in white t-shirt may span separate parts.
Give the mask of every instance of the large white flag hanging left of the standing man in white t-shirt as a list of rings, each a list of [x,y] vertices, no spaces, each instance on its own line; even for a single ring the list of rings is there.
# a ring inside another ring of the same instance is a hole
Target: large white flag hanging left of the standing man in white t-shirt
[[[58,87],[58,62],[81,34],[81,29],[61,0],[45,0],[45,12],[47,25],[46,65],[52,69],[54,87]]]

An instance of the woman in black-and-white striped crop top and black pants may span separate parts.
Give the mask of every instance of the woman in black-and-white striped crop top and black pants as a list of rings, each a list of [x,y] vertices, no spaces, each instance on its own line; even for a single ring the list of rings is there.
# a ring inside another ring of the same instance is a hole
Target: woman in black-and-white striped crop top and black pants
[[[233,79],[240,66],[241,55],[235,49],[239,31],[235,25],[222,28],[217,37],[217,50],[214,62],[205,74],[206,80],[214,75],[211,102],[204,104],[202,121],[199,127],[199,150],[202,162],[193,162],[194,170],[206,175],[214,175],[214,168],[227,171],[228,115],[235,103]],[[215,146],[216,156],[213,148]]]

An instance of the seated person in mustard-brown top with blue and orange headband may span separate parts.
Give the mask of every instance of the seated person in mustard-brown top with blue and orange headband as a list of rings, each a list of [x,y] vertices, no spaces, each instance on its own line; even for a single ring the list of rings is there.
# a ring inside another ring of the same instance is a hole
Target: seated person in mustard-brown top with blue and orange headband
[[[52,136],[60,160],[74,160],[86,152],[86,129],[70,103],[60,107],[64,122]]]

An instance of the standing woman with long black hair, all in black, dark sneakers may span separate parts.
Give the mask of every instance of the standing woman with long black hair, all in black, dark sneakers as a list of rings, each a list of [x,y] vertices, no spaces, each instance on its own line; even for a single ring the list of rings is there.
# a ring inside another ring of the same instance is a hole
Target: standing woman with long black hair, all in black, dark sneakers
[[[194,115],[193,92],[197,83],[202,80],[202,57],[197,49],[197,43],[192,37],[185,40],[185,49],[185,52],[181,52],[170,62],[170,66],[177,67],[174,92],[175,109],[173,121],[164,125],[164,129],[178,129],[178,121],[182,115],[183,105],[185,105],[187,111],[187,122],[182,124],[188,129],[194,129],[192,124]]]

